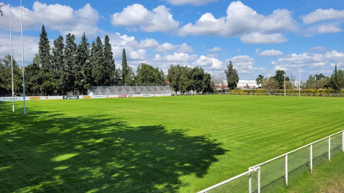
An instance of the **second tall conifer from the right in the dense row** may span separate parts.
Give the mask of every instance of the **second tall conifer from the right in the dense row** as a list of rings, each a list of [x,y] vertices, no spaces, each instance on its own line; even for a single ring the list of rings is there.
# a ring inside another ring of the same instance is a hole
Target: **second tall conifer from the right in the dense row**
[[[92,53],[92,78],[95,83],[105,83],[104,46],[99,36],[96,38],[95,46],[92,45]]]

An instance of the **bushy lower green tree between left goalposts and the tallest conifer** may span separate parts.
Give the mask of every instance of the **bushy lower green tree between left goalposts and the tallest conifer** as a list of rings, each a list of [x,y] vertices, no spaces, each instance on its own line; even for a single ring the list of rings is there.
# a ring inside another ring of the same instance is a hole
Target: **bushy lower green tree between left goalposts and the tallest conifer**
[[[31,64],[24,68],[25,73],[25,92],[31,93],[31,95],[37,96],[40,91],[42,80],[40,79],[40,61],[39,56],[33,58]]]

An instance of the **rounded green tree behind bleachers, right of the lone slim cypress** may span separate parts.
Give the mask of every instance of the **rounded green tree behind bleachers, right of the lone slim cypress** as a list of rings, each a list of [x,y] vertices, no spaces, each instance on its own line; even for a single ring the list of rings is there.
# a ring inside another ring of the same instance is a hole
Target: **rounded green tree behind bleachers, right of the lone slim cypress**
[[[164,72],[146,63],[141,63],[136,70],[136,83],[149,85],[150,83],[161,84],[164,82]]]

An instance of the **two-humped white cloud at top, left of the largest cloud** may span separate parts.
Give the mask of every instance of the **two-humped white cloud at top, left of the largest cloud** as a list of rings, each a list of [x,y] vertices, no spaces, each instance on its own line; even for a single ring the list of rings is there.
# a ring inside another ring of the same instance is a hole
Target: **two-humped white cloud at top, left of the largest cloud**
[[[159,5],[152,11],[135,3],[123,8],[122,12],[111,15],[111,24],[116,26],[140,26],[146,32],[171,32],[179,26],[170,9]]]

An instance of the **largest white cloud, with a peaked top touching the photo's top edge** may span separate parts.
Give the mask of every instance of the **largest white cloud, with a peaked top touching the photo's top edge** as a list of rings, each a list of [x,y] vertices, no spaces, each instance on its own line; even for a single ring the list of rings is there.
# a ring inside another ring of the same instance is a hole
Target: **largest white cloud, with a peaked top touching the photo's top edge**
[[[270,15],[258,14],[241,1],[229,4],[227,16],[216,19],[212,13],[205,13],[195,24],[188,23],[178,30],[178,35],[221,35],[238,36],[252,32],[296,31],[297,26],[291,12],[274,10]]]

